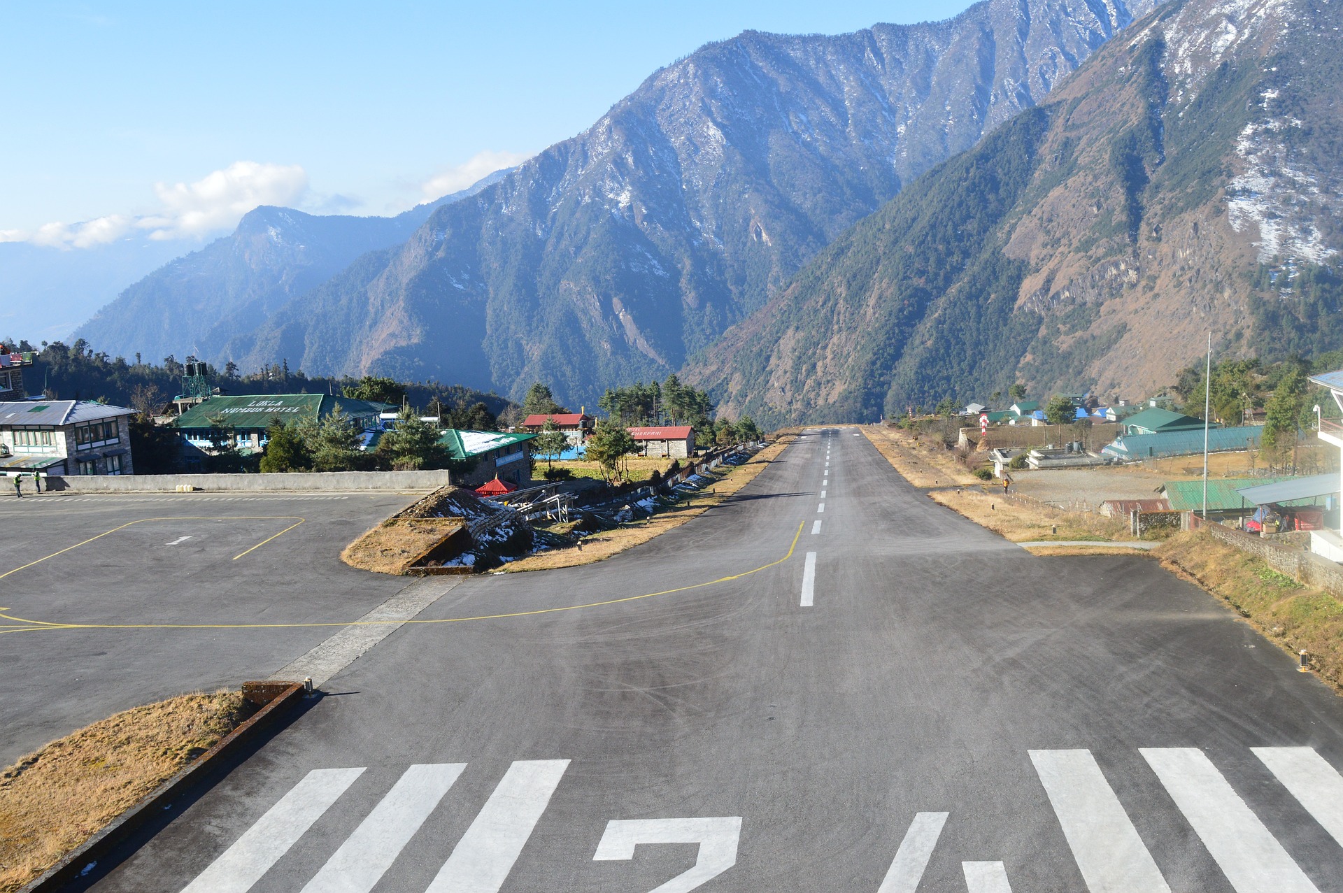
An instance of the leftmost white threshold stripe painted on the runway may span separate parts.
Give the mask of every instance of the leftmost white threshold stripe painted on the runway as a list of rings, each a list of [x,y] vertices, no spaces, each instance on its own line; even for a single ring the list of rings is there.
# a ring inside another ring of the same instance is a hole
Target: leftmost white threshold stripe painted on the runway
[[[246,893],[363,771],[313,769],[305,775],[181,893]]]

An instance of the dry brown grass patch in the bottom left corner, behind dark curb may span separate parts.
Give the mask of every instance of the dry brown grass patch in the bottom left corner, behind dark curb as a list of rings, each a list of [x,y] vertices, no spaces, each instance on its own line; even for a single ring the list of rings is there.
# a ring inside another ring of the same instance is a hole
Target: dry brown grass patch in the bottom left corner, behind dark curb
[[[0,773],[0,892],[64,854],[246,718],[242,694],[184,694],[117,713]]]

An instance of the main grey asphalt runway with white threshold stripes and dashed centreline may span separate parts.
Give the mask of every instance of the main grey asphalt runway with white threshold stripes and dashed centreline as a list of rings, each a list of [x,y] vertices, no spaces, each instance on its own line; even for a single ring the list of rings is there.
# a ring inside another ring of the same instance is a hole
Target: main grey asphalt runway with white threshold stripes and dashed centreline
[[[94,888],[1343,890],[1326,686],[1155,561],[1031,556],[851,431],[416,620]]]

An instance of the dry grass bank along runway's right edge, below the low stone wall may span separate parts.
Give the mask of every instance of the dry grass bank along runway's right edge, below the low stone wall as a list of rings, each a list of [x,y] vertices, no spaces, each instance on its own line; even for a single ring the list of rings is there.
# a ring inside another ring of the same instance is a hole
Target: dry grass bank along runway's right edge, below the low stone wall
[[[1178,533],[1152,555],[1226,602],[1285,651],[1305,649],[1311,669],[1343,693],[1343,602],[1336,596],[1296,583],[1206,530]]]

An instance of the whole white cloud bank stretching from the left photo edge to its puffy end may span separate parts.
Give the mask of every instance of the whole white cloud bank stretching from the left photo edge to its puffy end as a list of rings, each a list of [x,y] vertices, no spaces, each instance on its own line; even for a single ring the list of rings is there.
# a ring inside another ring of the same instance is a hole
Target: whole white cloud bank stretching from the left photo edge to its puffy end
[[[154,185],[161,208],[145,216],[113,214],[83,223],[47,223],[36,230],[0,230],[0,242],[50,248],[90,248],[148,231],[150,239],[199,238],[238,224],[262,204],[294,205],[308,192],[301,167],[235,161],[195,183]]]

